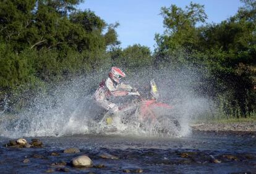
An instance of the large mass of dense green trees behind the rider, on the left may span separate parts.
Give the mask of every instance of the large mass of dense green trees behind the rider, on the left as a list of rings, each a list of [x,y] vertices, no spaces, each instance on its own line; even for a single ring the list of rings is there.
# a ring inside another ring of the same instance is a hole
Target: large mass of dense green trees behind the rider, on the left
[[[80,2],[0,1],[0,100],[9,96],[15,103],[20,91],[46,88],[110,60],[106,48],[119,44],[117,24],[77,10]]]

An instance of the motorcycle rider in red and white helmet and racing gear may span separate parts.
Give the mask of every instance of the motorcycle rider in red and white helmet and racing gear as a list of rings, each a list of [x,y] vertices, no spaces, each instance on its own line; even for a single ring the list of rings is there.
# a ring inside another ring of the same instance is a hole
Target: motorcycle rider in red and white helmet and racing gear
[[[96,103],[104,109],[109,110],[113,114],[119,112],[119,107],[117,106],[117,104],[109,101],[110,96],[140,96],[139,92],[132,92],[135,91],[135,89],[131,86],[120,83],[121,78],[124,77],[126,77],[126,74],[122,72],[120,68],[112,67],[108,74],[108,78],[101,81],[98,89],[94,94]]]

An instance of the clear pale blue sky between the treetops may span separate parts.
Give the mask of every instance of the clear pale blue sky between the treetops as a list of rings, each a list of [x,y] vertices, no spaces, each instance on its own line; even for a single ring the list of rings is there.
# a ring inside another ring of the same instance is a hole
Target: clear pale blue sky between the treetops
[[[207,22],[219,23],[231,15],[236,14],[242,6],[239,0],[195,0],[205,5],[208,15]],[[184,8],[189,5],[188,0],[85,0],[79,9],[90,9],[107,23],[119,22],[117,28],[121,47],[132,44],[148,46],[153,51],[155,33],[163,33],[163,17],[160,9],[176,4]]]

